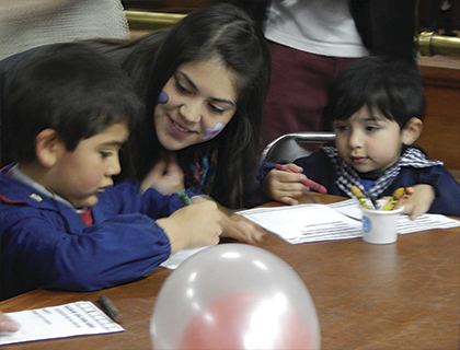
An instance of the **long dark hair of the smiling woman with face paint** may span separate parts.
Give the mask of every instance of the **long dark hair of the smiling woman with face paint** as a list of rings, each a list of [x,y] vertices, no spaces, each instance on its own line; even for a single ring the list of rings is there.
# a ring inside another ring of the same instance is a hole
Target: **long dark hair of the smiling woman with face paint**
[[[193,12],[169,31],[140,39],[135,47],[124,69],[138,83],[147,104],[146,120],[135,140],[136,176],[142,178],[165,152],[153,126],[164,84],[185,62],[218,58],[235,72],[237,112],[218,137],[176,155],[186,164],[205,149],[217,150],[209,195],[229,208],[243,206],[258,166],[261,120],[269,84],[269,52],[260,27],[244,11],[216,3]]]

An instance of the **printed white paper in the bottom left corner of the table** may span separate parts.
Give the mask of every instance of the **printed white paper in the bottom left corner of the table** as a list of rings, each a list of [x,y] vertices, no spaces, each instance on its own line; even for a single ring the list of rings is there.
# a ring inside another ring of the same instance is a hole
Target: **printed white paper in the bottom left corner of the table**
[[[16,332],[0,332],[0,346],[125,330],[92,302],[74,302],[5,315],[20,324],[21,329]]]

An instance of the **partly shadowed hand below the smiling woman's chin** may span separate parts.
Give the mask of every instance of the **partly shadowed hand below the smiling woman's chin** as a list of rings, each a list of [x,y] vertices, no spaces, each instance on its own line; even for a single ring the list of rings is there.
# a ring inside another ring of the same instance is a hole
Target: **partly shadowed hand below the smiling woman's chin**
[[[164,196],[170,196],[184,189],[184,172],[179,166],[174,154],[158,162],[140,184],[139,191],[143,194],[153,188]]]

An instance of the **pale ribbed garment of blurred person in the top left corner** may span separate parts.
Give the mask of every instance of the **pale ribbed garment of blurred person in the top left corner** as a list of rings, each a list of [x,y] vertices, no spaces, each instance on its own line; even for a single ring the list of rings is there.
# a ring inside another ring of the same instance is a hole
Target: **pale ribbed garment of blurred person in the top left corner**
[[[0,60],[30,48],[90,38],[128,38],[120,0],[0,0]]]

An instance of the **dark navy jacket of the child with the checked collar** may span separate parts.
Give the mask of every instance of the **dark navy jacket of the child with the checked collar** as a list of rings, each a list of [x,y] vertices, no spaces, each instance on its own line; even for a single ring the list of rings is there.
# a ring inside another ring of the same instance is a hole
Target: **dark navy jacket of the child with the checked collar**
[[[327,154],[321,149],[309,156],[296,160],[294,163],[303,168],[308,178],[327,188],[327,194],[348,197],[336,184],[337,171]],[[272,163],[263,163],[261,167],[260,182],[262,184],[265,175],[274,167]],[[460,184],[441,165],[432,167],[404,166],[400,174],[387,187],[380,197],[391,196],[400,187],[410,187],[417,184],[427,184],[435,188],[436,198],[429,208],[429,213],[460,217]],[[258,186],[260,188],[262,185]],[[258,199],[262,189],[260,189]],[[268,199],[265,197],[265,199]],[[260,202],[258,202],[260,203]]]

